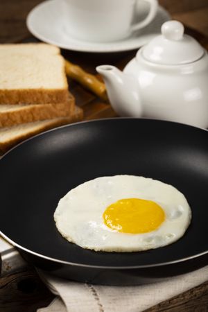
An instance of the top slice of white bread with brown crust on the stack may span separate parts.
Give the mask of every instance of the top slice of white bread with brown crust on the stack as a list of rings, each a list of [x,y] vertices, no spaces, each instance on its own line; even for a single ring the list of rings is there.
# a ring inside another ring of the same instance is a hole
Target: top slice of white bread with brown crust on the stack
[[[0,44],[0,103],[64,103],[65,62],[49,44]]]

